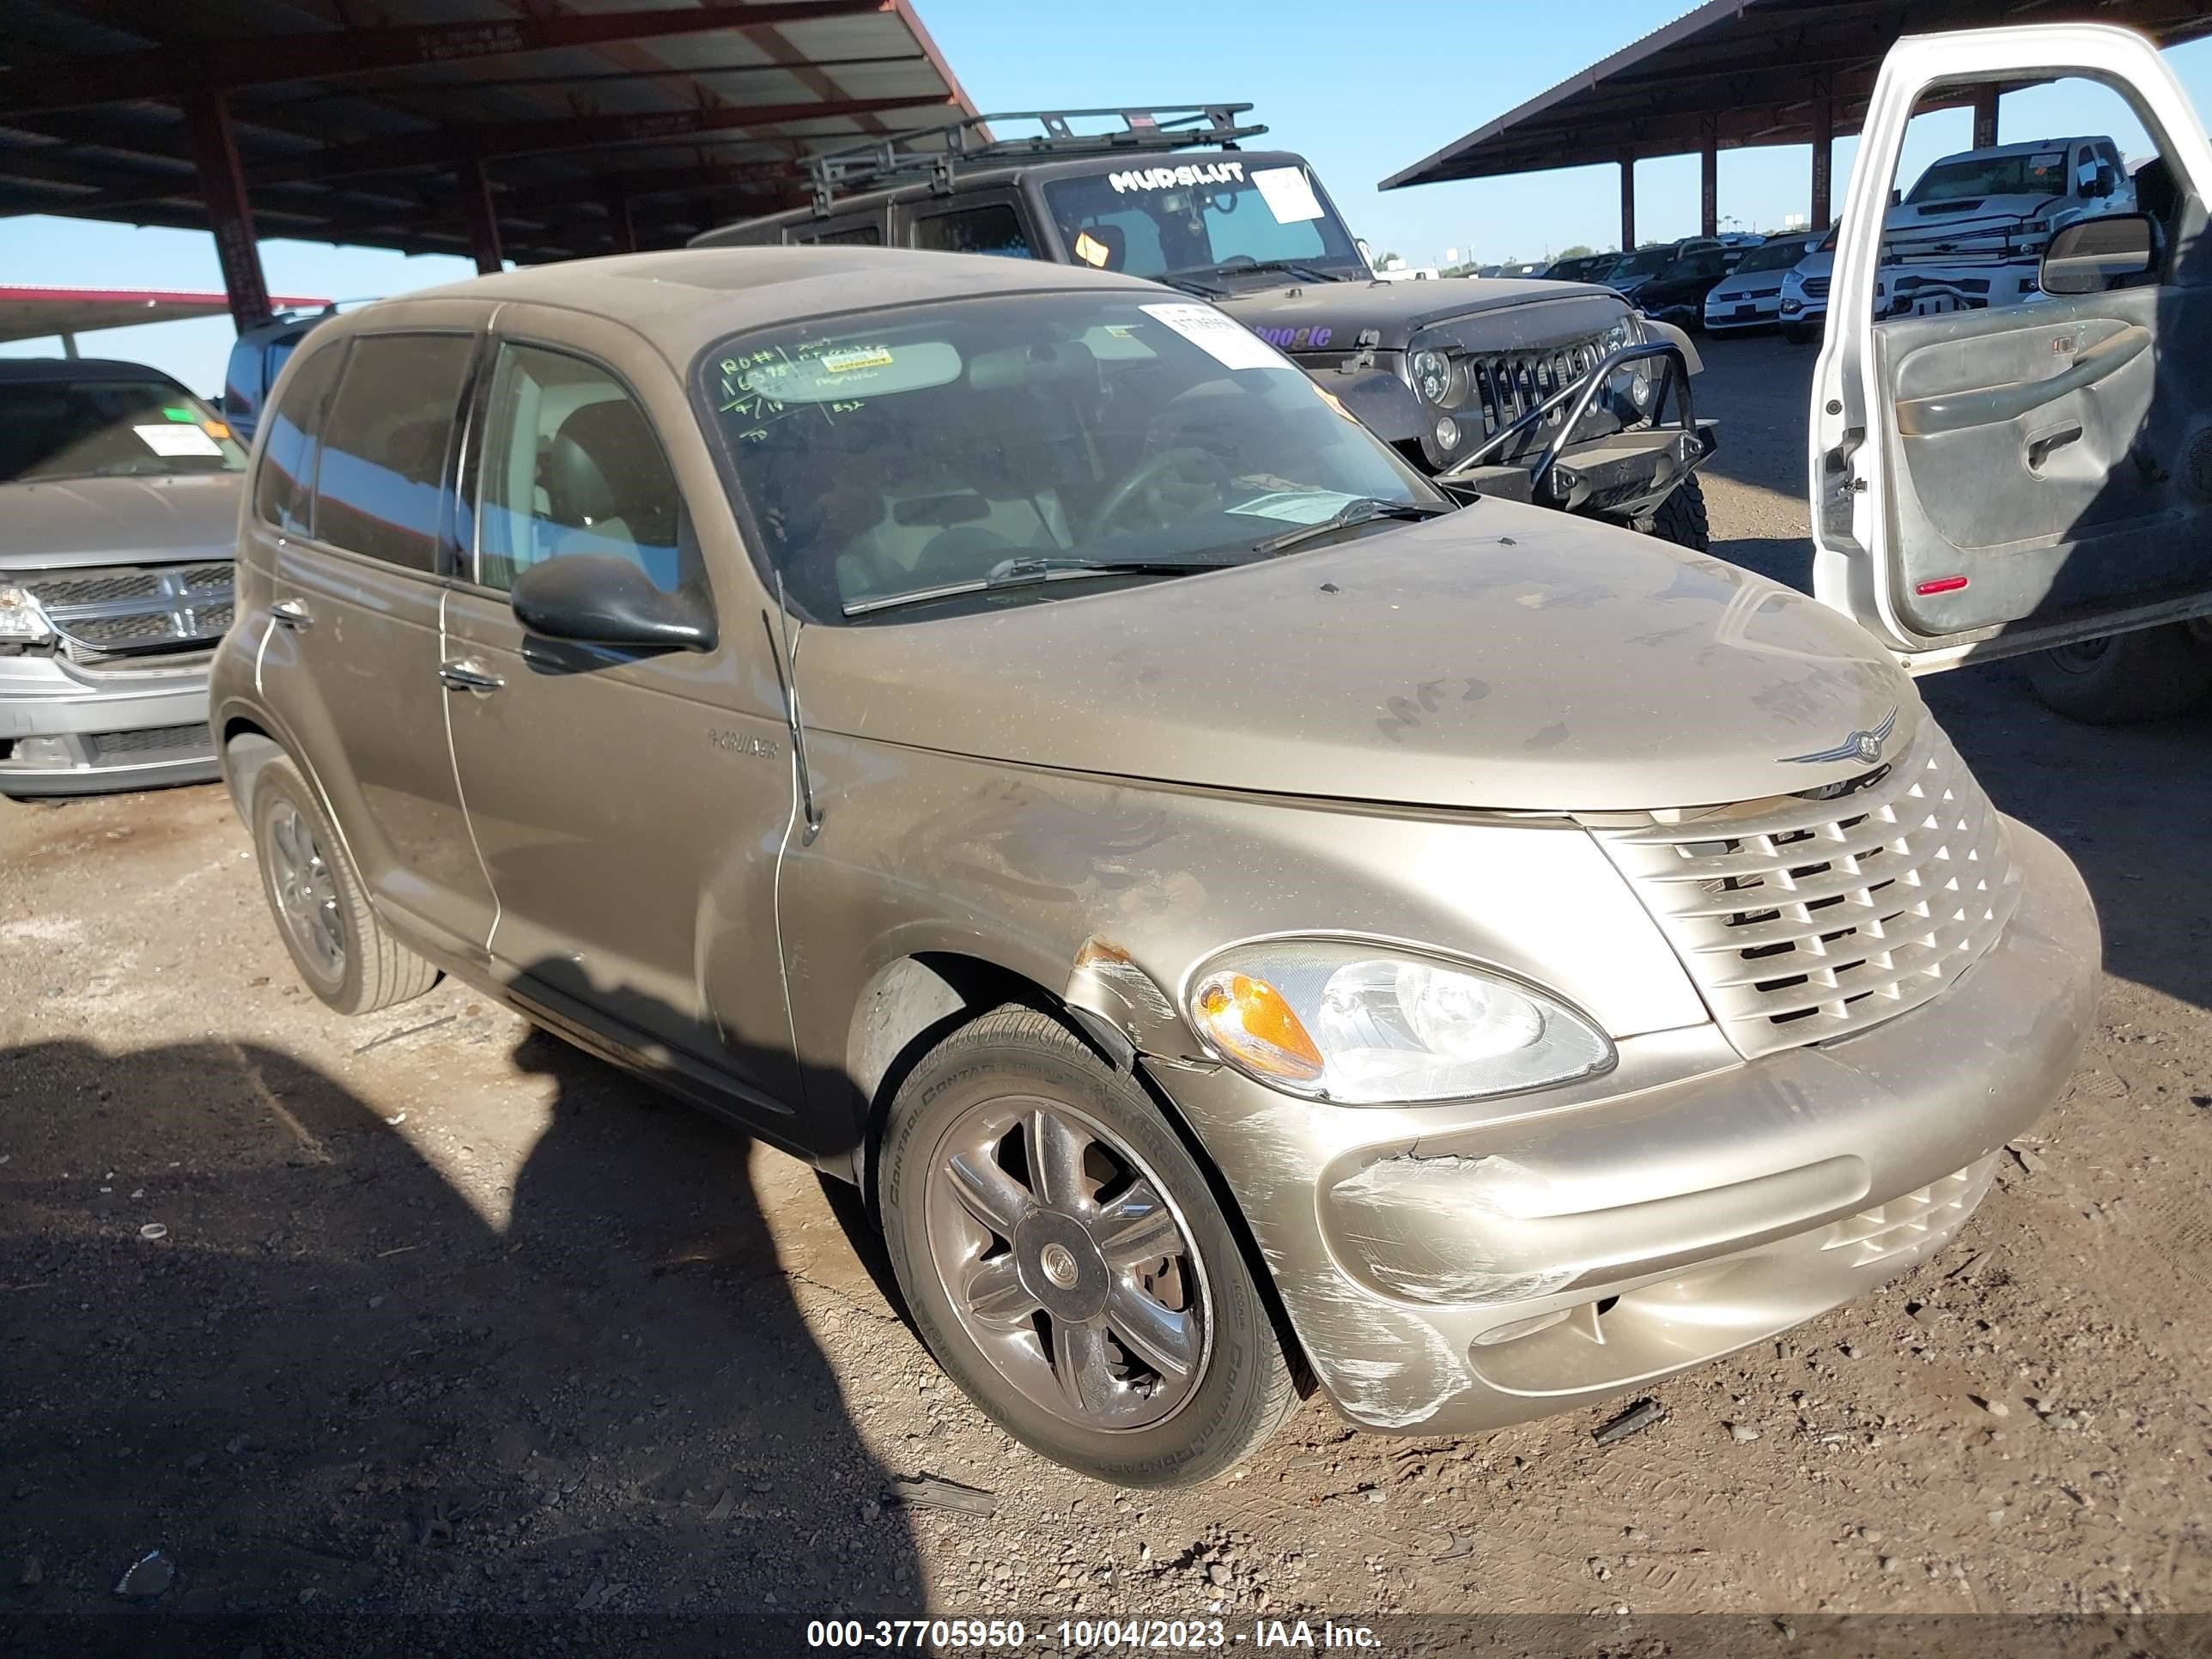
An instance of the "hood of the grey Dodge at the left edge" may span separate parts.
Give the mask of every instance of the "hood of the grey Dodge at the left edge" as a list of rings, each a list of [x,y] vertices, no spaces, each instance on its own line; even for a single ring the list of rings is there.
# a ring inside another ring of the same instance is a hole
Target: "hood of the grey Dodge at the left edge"
[[[228,560],[243,473],[0,484],[0,568]]]

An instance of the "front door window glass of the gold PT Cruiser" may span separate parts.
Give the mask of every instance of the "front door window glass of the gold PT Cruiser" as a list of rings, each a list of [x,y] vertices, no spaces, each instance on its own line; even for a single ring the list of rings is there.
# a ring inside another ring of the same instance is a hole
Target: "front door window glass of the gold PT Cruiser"
[[[646,411],[608,369],[502,345],[491,376],[476,580],[507,591],[571,553],[628,560],[657,588],[684,582],[681,495]]]

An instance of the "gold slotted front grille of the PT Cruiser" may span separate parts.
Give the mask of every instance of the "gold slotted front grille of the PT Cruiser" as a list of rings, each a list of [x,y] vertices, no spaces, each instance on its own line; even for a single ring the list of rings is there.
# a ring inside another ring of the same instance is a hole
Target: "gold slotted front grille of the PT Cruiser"
[[[2020,902],[2004,821],[1931,719],[1843,796],[1590,830],[1747,1060],[1920,1006]]]

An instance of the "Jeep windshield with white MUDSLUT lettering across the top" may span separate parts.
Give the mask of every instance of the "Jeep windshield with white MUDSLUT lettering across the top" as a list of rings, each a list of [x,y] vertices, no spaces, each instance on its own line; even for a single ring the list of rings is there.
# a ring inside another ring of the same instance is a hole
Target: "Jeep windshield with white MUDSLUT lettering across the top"
[[[1367,261],[1303,166],[1237,159],[1053,179],[1044,201],[1068,252],[1133,276],[1234,272],[1292,261],[1363,279]]]

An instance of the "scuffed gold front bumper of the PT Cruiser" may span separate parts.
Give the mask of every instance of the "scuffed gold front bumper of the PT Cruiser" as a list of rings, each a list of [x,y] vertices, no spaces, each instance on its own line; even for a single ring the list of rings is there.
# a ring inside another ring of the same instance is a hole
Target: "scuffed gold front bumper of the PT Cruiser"
[[[1157,1066],[1219,1161],[1305,1356],[1374,1429],[1478,1431],[1632,1389],[1940,1250],[2073,1073],[2097,918],[2011,825],[2022,905],[1936,1002],[1741,1062],[1621,1044],[1577,1091],[1356,1110]]]

